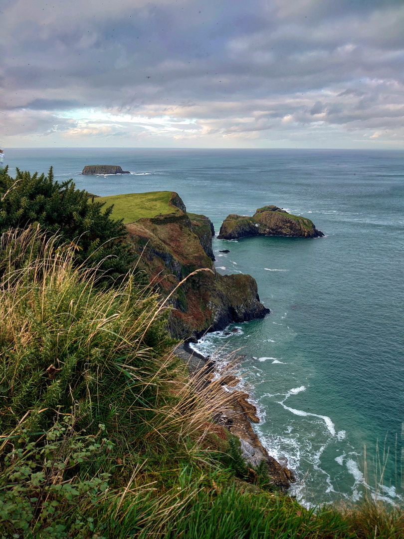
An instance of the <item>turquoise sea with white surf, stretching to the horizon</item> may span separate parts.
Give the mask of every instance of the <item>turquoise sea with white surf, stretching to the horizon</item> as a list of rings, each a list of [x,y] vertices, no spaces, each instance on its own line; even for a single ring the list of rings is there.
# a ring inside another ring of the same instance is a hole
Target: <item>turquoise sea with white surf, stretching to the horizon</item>
[[[272,312],[236,324],[231,336],[210,334],[198,349],[241,349],[257,431],[297,472],[300,499],[375,492],[378,440],[380,458],[389,446],[379,495],[402,497],[404,152],[13,149],[5,163],[53,164],[57,179],[73,177],[98,195],[175,190],[217,231],[228,213],[252,215],[264,204],[312,219],[324,238],[214,239],[218,271],[253,275]],[[102,163],[132,174],[79,175]]]

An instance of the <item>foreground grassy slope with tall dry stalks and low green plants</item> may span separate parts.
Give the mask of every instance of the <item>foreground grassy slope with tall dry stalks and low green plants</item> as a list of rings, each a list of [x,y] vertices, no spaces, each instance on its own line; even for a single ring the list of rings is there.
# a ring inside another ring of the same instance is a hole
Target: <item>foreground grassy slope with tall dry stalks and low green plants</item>
[[[307,510],[243,480],[236,439],[211,434],[225,392],[196,390],[133,275],[101,288],[72,244],[1,240],[1,539],[403,537],[400,508]]]

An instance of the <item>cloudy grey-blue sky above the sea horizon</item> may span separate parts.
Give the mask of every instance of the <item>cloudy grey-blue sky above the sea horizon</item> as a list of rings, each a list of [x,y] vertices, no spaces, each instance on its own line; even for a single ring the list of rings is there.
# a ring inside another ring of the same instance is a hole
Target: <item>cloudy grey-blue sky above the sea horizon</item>
[[[2,147],[404,149],[403,0],[1,0]]]

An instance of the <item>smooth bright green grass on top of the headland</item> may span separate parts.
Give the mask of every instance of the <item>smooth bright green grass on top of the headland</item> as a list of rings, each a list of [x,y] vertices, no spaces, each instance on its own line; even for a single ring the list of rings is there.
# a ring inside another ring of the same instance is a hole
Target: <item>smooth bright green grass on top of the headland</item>
[[[96,202],[114,204],[113,219],[123,219],[131,223],[141,217],[155,217],[159,213],[176,213],[178,208],[169,204],[172,191],[150,191],[148,193],[129,193],[96,198]]]

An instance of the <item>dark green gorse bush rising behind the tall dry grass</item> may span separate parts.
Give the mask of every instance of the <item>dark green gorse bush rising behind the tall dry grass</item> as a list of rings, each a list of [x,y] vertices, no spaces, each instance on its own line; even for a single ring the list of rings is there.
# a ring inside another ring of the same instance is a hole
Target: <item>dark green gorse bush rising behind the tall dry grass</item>
[[[72,242],[79,262],[102,261],[105,274],[116,278],[133,264],[133,252],[125,241],[126,227],[110,217],[112,208],[76,189],[72,179],[55,181],[52,167],[47,176],[17,169],[14,178],[7,167],[0,170],[0,233],[38,223]]]

